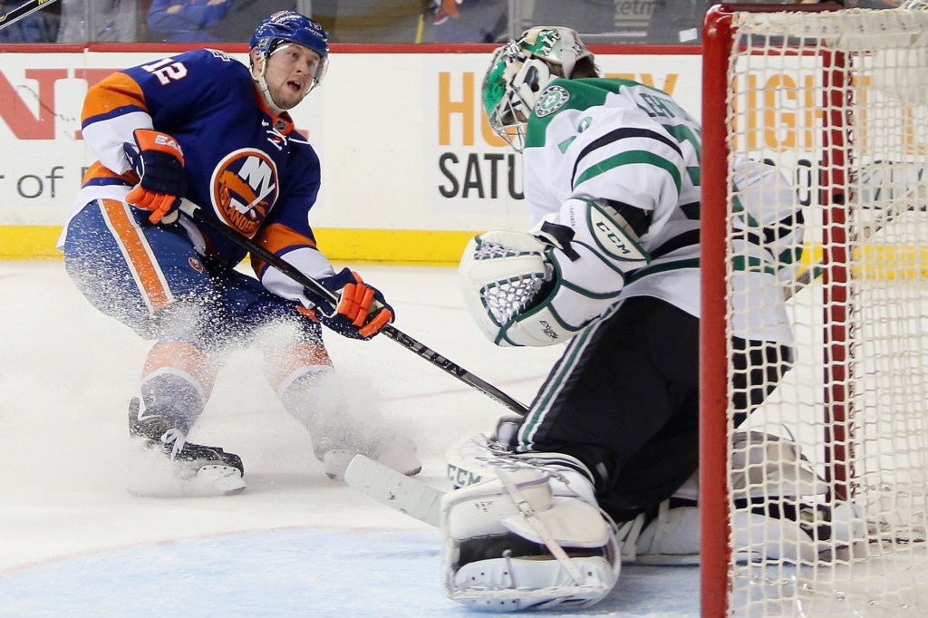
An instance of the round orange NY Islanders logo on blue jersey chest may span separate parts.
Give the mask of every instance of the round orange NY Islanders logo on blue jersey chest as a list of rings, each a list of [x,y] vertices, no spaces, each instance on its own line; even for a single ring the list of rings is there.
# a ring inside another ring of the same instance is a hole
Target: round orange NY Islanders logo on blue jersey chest
[[[210,185],[216,213],[251,238],[277,200],[277,165],[261,150],[242,148],[219,161]]]

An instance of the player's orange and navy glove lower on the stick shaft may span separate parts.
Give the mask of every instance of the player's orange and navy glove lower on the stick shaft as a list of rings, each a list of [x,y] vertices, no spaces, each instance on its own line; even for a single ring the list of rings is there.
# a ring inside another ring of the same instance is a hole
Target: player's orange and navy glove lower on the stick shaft
[[[339,298],[333,307],[328,300],[307,289],[307,298],[316,304],[314,317],[340,335],[367,341],[379,333],[380,328],[393,322],[393,308],[383,300],[380,290],[367,285],[348,268],[319,279],[319,283]]]

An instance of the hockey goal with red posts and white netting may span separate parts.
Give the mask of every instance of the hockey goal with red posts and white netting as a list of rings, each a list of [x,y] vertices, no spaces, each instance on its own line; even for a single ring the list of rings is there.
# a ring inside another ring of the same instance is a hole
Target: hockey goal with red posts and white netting
[[[706,618],[928,616],[928,13],[839,8],[720,5],[703,27]],[[765,160],[793,184],[775,216],[737,175]],[[756,393],[733,338],[777,315],[789,370],[754,370],[767,398],[736,430]]]

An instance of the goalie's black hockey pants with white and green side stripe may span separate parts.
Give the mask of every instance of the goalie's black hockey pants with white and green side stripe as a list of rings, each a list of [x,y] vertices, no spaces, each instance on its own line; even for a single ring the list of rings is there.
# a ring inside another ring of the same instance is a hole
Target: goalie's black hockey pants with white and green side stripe
[[[699,318],[650,297],[613,311],[568,344],[522,422],[518,449],[577,457],[596,477],[599,506],[630,521],[699,467]],[[741,424],[789,369],[792,351],[733,343]]]

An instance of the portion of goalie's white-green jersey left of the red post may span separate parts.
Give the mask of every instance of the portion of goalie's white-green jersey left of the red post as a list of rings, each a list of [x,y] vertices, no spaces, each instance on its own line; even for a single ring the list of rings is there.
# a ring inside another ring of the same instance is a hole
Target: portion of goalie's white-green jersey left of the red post
[[[572,197],[605,200],[651,255],[626,278],[623,297],[700,315],[701,136],[686,111],[637,82],[555,80],[533,109],[525,146],[532,225]]]

